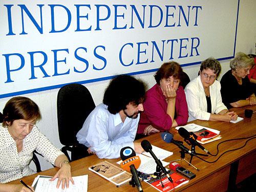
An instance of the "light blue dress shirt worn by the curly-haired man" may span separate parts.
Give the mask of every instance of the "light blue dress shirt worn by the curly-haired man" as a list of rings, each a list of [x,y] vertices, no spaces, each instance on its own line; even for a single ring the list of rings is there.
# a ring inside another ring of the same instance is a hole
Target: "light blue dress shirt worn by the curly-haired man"
[[[84,121],[76,137],[79,143],[91,146],[91,151],[99,158],[119,158],[121,148],[130,146],[134,149],[139,119],[139,115],[136,119],[126,117],[122,122],[119,113],[111,114],[108,106],[101,103]]]

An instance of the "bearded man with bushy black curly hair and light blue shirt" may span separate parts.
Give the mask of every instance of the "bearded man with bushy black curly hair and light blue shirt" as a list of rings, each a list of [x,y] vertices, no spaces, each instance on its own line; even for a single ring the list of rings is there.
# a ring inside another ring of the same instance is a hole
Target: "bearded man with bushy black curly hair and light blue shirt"
[[[79,143],[88,147],[88,153],[99,158],[120,157],[121,148],[132,147],[142,153],[139,142],[134,142],[145,85],[129,75],[113,78],[106,88],[103,103],[91,112],[76,137]]]

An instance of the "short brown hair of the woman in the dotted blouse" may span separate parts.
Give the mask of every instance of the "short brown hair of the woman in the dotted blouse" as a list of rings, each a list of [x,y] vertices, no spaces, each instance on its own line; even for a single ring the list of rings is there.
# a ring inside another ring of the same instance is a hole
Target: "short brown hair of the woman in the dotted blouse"
[[[37,104],[28,97],[13,97],[5,105],[3,110],[3,126],[12,125],[14,120],[25,119],[35,121],[41,119]]]

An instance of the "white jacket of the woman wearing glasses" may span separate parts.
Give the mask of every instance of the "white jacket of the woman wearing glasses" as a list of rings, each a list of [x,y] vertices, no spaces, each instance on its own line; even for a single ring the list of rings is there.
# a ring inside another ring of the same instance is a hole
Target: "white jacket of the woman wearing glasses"
[[[218,114],[226,110],[221,98],[221,84],[215,80],[210,86],[211,114]],[[200,75],[190,81],[185,88],[188,121],[195,119],[209,120],[210,113],[207,112],[207,101]]]

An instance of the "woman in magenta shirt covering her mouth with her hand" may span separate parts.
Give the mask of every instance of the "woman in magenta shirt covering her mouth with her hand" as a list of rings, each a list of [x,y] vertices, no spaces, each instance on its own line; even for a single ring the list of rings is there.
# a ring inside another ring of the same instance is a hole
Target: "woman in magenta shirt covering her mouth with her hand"
[[[157,83],[145,94],[136,139],[187,123],[187,102],[180,86],[183,71],[179,63],[163,63],[154,77]]]

